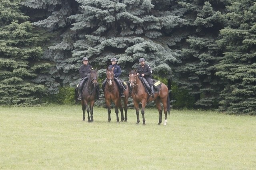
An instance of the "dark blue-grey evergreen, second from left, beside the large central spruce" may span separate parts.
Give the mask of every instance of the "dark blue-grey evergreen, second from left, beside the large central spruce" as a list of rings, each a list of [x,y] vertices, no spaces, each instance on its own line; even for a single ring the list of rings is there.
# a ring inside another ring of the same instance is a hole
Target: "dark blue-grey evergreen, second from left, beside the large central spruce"
[[[58,88],[69,84],[74,76],[73,72],[67,71],[76,40],[76,32],[70,30],[72,20],[68,17],[79,12],[78,3],[75,0],[24,0],[22,4],[26,6],[24,11],[30,16],[32,24],[47,31],[44,35],[50,37],[50,41],[42,44],[42,59],[53,64],[48,69],[48,75],[38,76],[37,81],[44,81],[50,94],[56,94]]]

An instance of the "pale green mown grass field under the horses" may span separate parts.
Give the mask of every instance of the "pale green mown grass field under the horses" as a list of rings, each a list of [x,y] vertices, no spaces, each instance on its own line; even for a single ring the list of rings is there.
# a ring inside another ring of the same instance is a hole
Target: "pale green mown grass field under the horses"
[[[256,167],[256,117],[172,110],[164,126],[146,108],[146,125],[133,109],[128,122],[114,109],[111,118],[104,108],[88,123],[81,106],[0,107],[0,169]]]

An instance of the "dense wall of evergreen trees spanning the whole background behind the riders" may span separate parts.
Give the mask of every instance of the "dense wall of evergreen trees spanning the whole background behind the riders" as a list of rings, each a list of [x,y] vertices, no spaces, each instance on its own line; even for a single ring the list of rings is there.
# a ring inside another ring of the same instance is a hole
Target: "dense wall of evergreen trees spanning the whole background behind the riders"
[[[0,4],[0,104],[66,103],[83,57],[100,83],[144,57],[173,106],[256,114],[255,0],[19,2]]]

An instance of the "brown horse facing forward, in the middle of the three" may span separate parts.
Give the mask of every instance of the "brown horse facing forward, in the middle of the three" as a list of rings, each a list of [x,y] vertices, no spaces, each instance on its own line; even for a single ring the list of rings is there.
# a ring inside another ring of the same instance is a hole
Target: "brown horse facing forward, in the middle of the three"
[[[121,98],[119,96],[118,85],[116,84],[116,82],[114,80],[114,72],[111,68],[107,69],[106,76],[107,76],[107,83],[104,88],[104,96],[105,96],[105,100],[106,100],[106,105],[108,107],[108,122],[111,121],[111,117],[110,117],[111,102],[114,102],[114,104],[115,104],[116,122],[119,122],[118,107],[121,112],[121,121],[127,121],[127,105],[128,105],[129,89],[128,89],[128,87],[126,89],[124,89],[124,98]],[[124,111],[123,111],[121,99],[124,102]],[[124,117],[124,112],[125,112],[125,117]]]

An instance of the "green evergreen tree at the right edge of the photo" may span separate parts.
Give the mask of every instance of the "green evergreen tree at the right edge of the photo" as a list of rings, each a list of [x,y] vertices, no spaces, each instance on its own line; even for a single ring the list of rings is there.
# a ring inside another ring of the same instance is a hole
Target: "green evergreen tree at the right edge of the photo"
[[[218,41],[225,53],[217,75],[226,82],[220,111],[256,114],[256,2],[234,0],[228,6],[229,25]]]

